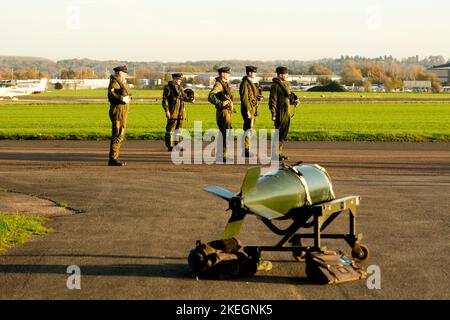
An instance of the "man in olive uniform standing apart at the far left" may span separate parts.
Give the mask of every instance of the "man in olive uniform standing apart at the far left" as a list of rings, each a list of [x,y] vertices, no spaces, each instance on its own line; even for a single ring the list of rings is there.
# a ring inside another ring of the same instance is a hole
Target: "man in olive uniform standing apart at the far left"
[[[124,166],[119,161],[120,146],[125,139],[127,125],[128,104],[131,101],[131,92],[126,84],[127,67],[114,68],[108,86],[108,100],[110,103],[109,118],[112,124],[111,145],[109,151],[109,166]]]

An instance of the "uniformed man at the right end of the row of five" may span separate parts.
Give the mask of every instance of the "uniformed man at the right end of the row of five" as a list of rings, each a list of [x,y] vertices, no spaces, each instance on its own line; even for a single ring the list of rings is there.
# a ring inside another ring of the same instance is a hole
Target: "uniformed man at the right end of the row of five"
[[[270,88],[269,109],[272,113],[275,129],[280,130],[278,158],[279,160],[287,160],[288,157],[283,154],[283,145],[289,133],[291,121],[291,89],[287,81],[289,76],[288,69],[278,67],[276,73],[277,77],[273,78],[272,87]]]

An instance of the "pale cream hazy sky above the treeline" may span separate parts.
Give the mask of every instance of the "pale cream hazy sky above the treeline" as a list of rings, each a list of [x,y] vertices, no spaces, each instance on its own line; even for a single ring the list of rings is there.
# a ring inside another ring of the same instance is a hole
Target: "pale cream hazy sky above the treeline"
[[[134,61],[450,58],[448,0],[6,0],[0,55]]]

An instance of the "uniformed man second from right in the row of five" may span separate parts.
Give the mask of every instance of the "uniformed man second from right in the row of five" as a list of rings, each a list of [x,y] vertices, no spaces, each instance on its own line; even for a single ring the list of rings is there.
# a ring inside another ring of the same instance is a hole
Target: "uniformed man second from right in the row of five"
[[[262,100],[262,95],[259,93],[254,81],[256,77],[257,67],[247,66],[245,67],[245,73],[247,74],[242,78],[242,82],[239,85],[239,95],[241,97],[241,115],[244,120],[244,131],[251,130],[255,125],[258,101]],[[245,149],[244,156],[253,156],[250,152],[250,139],[248,134],[245,134]]]

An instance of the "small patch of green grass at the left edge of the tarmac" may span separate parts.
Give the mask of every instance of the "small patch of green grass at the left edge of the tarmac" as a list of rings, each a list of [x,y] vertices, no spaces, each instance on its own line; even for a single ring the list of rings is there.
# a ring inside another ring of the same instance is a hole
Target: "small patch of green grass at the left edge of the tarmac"
[[[43,225],[48,220],[41,216],[0,213],[0,253],[25,243],[32,235],[49,233]]]

